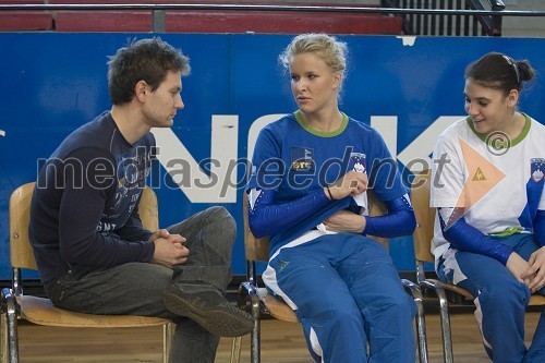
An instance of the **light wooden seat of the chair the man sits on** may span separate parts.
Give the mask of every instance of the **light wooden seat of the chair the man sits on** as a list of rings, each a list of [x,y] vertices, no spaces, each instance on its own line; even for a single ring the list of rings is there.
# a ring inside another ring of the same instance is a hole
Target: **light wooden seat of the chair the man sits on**
[[[71,312],[56,307],[49,299],[37,297],[17,297],[21,317],[37,324],[60,327],[81,328],[134,328],[160,326],[170,320],[153,316],[133,315],[94,315]]]

